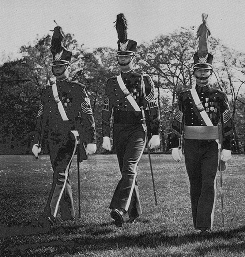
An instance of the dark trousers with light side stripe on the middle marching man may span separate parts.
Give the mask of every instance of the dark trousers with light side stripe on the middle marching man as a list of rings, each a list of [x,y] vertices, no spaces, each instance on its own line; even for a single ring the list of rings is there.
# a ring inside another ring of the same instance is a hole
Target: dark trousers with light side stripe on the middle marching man
[[[122,175],[111,200],[110,209],[125,209],[129,218],[141,215],[137,165],[145,148],[141,124],[114,124],[113,141]]]

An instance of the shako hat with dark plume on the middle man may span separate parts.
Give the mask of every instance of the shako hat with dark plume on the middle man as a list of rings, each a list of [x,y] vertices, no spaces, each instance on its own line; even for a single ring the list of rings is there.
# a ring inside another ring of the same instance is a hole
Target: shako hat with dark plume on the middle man
[[[127,39],[127,20],[123,13],[117,15],[117,19],[114,22],[118,36],[118,52],[119,55],[134,55],[137,47],[137,42],[131,39]]]

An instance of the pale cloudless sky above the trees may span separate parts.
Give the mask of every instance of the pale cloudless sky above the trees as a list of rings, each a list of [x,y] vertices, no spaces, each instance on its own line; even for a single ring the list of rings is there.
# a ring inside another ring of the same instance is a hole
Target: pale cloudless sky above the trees
[[[245,0],[0,0],[0,4],[0,55],[16,56],[37,35],[52,35],[53,20],[86,48],[116,48],[113,22],[119,13],[128,20],[128,38],[138,44],[179,27],[197,27],[206,13],[213,37],[245,52]]]

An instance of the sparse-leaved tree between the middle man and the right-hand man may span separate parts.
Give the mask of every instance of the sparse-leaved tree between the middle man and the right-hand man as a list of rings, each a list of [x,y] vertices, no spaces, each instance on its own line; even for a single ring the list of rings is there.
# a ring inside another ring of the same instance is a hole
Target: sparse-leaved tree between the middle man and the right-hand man
[[[192,86],[192,56],[195,37],[192,29],[182,28],[169,35],[160,35],[149,46],[138,50],[140,68],[152,76],[158,91],[162,120],[162,150],[168,151],[172,118],[180,91]]]

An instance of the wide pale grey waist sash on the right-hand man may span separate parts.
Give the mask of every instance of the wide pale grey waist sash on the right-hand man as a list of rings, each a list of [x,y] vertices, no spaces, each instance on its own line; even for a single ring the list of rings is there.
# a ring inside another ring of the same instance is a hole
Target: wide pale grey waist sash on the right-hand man
[[[184,126],[185,139],[217,140],[219,139],[218,126]]]

